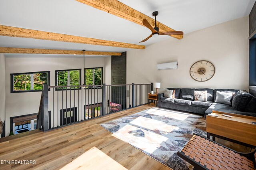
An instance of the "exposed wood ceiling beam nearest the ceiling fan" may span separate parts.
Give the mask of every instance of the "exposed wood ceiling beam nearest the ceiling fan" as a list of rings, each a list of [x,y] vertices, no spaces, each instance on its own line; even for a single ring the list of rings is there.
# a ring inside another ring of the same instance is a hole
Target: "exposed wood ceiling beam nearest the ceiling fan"
[[[155,20],[150,18],[149,16],[146,16],[145,14],[142,14],[141,12],[134,10],[133,8],[119,2],[118,0],[76,0],[78,2],[81,2],[83,4],[92,6],[94,8],[97,8],[99,10],[108,12],[110,14],[113,14],[115,16],[118,16],[120,18],[124,18],[128,21],[134,22],[136,24],[140,24],[141,26],[144,26],[142,24],[142,20],[145,18],[148,20],[148,22],[154,27]],[[168,26],[156,22],[156,25],[159,27],[159,31],[175,31],[172,28],[169,28]],[[172,37],[177,39],[182,39],[183,35],[172,35]]]

